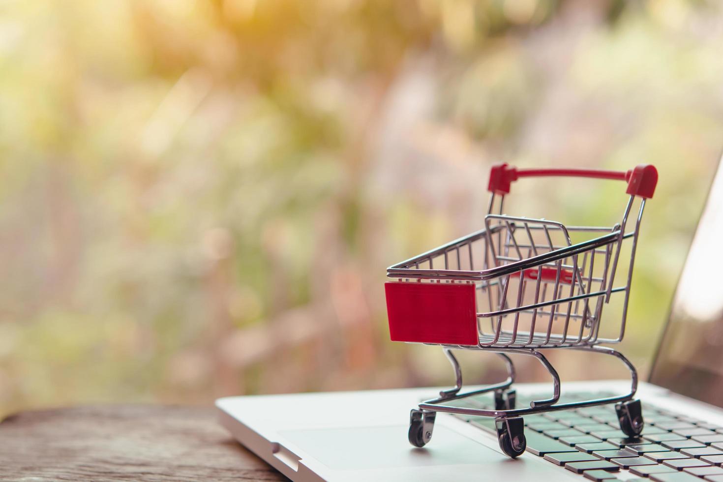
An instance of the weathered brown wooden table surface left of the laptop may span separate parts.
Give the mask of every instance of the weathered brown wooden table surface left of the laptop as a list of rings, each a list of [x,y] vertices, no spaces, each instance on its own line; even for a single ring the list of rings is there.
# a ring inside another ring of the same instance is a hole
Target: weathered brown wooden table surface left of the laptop
[[[283,481],[213,408],[102,405],[0,423],[0,481]]]

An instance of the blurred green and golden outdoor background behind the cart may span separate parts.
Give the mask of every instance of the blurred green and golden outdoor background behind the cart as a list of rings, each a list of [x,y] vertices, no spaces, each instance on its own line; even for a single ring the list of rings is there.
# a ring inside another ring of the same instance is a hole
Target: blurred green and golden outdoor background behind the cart
[[[0,413],[453,382],[388,340],[385,268],[481,228],[502,160],[658,166],[621,347],[646,373],[723,147],[721,46],[716,0],[1,1]],[[625,200],[520,192],[570,223]],[[552,353],[625,375],[580,357]]]

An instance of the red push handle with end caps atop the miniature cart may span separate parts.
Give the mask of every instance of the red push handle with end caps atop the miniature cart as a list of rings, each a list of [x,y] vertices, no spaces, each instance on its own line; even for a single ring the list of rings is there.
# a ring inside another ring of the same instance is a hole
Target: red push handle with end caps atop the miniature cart
[[[655,186],[658,184],[658,171],[654,165],[639,164],[628,172],[603,171],[602,169],[518,169],[508,164],[493,165],[489,170],[489,185],[487,190],[495,194],[510,194],[510,184],[523,177],[543,176],[573,176],[596,179],[615,179],[627,181],[628,190],[633,196],[646,199],[653,197]]]

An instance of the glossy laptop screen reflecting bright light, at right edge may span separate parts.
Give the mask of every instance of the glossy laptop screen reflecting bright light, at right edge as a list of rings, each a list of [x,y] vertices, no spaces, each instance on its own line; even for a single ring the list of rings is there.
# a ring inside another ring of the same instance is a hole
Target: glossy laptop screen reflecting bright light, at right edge
[[[723,169],[713,180],[650,381],[723,406]]]

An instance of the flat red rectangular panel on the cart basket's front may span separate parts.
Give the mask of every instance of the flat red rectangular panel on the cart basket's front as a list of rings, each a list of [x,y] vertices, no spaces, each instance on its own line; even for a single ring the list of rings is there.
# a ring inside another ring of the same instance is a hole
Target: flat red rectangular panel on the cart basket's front
[[[393,341],[476,345],[477,309],[470,283],[385,283]]]

